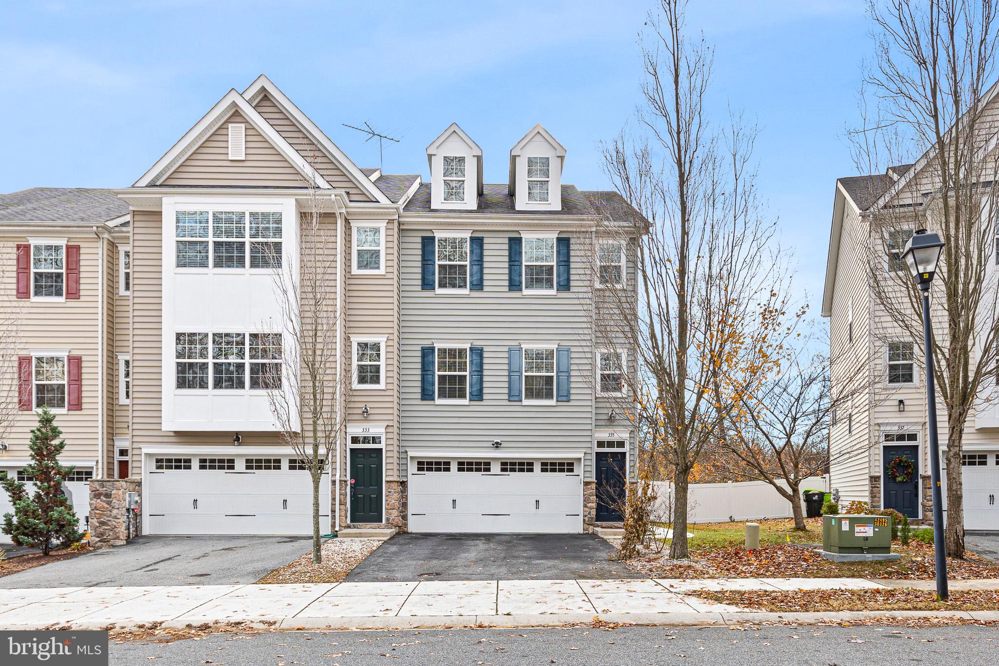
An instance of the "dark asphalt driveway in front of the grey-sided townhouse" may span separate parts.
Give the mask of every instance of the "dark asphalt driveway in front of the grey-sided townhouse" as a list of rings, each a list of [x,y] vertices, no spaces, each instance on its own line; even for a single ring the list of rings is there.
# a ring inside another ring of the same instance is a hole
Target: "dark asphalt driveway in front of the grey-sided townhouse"
[[[640,578],[592,534],[397,534],[349,581]]]

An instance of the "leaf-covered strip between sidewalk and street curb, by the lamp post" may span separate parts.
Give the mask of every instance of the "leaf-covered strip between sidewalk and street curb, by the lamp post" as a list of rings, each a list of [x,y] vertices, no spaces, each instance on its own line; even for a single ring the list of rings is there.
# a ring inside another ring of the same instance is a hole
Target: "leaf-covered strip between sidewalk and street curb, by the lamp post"
[[[843,610],[999,610],[999,591],[961,590],[947,601],[934,592],[907,588],[873,590],[735,590],[685,592],[720,603],[775,613],[833,612]]]

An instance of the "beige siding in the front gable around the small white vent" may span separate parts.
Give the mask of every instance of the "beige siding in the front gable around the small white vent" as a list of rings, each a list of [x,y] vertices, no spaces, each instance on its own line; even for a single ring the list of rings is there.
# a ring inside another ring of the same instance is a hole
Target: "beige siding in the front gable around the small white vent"
[[[229,124],[246,125],[246,159],[229,159]],[[294,166],[238,111],[234,112],[163,185],[306,187]]]

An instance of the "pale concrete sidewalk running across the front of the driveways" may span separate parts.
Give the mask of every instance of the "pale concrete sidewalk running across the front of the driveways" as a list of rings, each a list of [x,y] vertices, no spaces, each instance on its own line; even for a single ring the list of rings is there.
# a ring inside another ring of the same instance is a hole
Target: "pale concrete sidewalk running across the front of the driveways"
[[[873,589],[887,587],[883,582],[887,581],[861,578],[433,580],[3,589],[0,629],[98,629],[111,625],[125,629],[153,622],[165,627],[241,623],[286,629],[402,629],[550,626],[588,623],[594,617],[632,624],[718,624],[733,619],[761,621],[749,618],[761,615],[802,616],[802,621],[808,617],[819,621],[830,619],[830,615],[838,618],[840,614],[760,614],[701,599],[689,592]],[[981,589],[979,581],[966,582],[974,582]],[[990,583],[992,588],[999,588],[999,581]],[[952,587],[958,588],[956,584]],[[898,613],[867,613],[888,614]],[[914,615],[999,619],[999,612],[915,612]],[[978,618],[979,615],[982,617]],[[901,612],[901,616],[907,615]]]

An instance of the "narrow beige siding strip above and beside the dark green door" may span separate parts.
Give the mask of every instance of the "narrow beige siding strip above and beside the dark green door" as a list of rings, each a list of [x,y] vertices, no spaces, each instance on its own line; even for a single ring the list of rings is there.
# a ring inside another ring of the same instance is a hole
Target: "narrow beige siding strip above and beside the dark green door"
[[[364,220],[354,220],[347,224],[344,232],[345,249],[343,261],[347,278],[347,344],[349,355],[354,345],[350,335],[385,335],[385,388],[357,388],[352,392],[348,409],[348,424],[386,423],[385,437],[385,476],[386,480],[398,480],[399,451],[399,412],[397,394],[399,392],[399,299],[398,268],[399,243],[398,222],[389,221],[385,228],[385,275],[354,275],[353,266],[353,226],[364,226]],[[354,371],[354,358],[345,368]],[[371,414],[364,418],[361,409],[368,405]],[[348,440],[348,443],[349,440]]]

